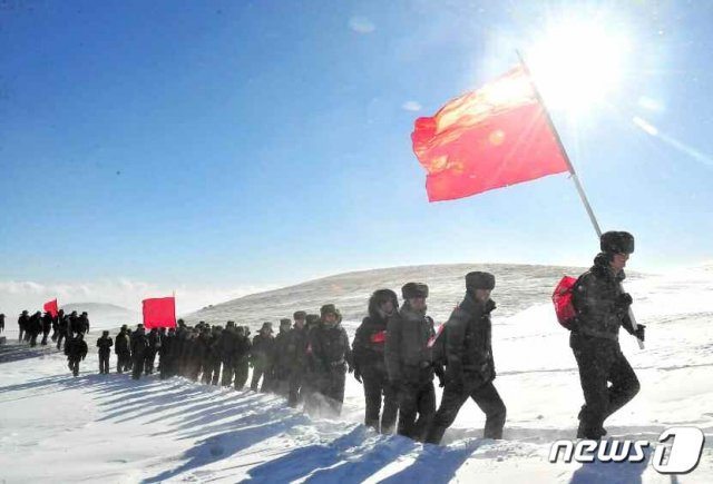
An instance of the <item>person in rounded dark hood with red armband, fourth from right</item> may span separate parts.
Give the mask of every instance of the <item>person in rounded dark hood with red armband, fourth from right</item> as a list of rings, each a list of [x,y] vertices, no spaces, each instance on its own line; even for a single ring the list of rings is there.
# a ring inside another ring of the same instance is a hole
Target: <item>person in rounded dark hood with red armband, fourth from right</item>
[[[397,294],[391,289],[375,290],[369,298],[369,316],[356,328],[352,353],[354,356],[354,377],[364,385],[367,404],[364,425],[383,434],[393,433],[399,411],[397,389],[389,383],[389,373],[384,359],[387,344],[387,324],[399,307]],[[383,396],[381,426],[379,413]]]

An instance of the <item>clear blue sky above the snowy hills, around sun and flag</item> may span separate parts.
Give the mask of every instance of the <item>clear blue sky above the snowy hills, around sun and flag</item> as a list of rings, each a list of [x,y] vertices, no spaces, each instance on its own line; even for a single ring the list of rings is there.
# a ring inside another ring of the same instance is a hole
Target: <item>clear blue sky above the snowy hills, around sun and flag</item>
[[[428,204],[410,145],[417,117],[514,66],[563,9],[629,41],[605,105],[576,124],[553,110],[602,227],[637,237],[631,267],[710,260],[713,3],[16,0],[0,10],[0,281],[588,265],[566,176]]]

